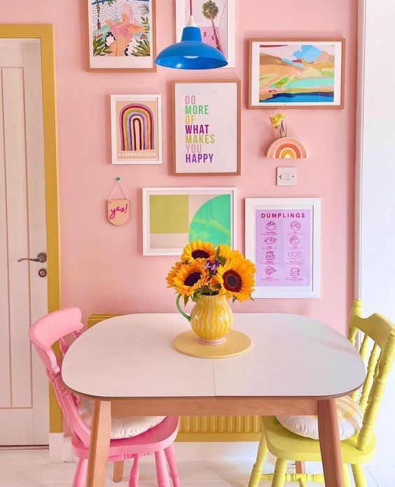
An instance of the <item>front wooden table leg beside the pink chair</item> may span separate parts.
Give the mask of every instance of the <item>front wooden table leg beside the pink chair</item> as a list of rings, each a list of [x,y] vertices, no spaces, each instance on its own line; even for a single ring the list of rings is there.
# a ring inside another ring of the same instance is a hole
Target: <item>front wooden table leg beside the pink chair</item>
[[[111,436],[111,402],[95,401],[86,487],[104,487]]]

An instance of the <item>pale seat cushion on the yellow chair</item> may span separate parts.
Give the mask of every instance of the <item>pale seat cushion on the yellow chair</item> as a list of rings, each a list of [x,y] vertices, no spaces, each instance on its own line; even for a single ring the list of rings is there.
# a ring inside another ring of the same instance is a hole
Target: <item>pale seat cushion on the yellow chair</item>
[[[336,399],[338,406],[340,440],[348,439],[359,433],[362,427],[363,412],[351,397]],[[277,416],[280,425],[300,437],[318,439],[317,416]]]

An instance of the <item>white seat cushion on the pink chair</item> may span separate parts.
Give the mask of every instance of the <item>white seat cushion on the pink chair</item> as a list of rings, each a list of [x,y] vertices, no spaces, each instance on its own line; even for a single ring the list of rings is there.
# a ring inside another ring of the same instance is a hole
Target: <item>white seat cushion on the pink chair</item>
[[[78,402],[78,413],[85,425],[92,426],[93,402],[85,397]],[[162,423],[166,416],[111,416],[111,439],[137,437]]]

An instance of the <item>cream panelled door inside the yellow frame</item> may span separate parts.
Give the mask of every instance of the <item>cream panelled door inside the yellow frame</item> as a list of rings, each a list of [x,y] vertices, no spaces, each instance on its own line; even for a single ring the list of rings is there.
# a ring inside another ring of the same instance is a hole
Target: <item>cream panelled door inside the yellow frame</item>
[[[46,252],[40,53],[39,39],[0,39],[0,446],[48,444],[48,380],[27,336],[46,314],[46,263],[18,262]]]

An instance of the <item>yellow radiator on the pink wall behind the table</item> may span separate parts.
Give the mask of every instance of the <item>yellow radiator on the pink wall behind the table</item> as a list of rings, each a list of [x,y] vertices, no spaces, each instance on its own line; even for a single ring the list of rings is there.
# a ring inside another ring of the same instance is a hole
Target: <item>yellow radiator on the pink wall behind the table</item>
[[[90,315],[88,328],[117,315]],[[177,441],[259,441],[260,416],[181,416]]]

